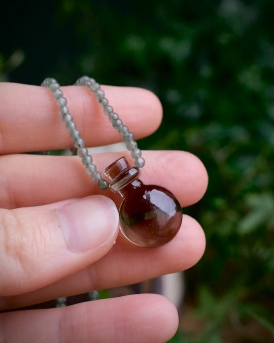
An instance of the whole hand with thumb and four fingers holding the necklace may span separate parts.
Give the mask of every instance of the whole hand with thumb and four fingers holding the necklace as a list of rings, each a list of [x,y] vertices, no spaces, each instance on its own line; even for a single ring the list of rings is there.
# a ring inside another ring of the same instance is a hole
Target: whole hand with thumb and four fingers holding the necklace
[[[102,89],[136,139],[157,129],[162,109],[151,92]],[[62,90],[86,146],[121,139],[87,88]],[[191,217],[183,215],[180,232],[168,244],[136,247],[118,234],[119,195],[101,192],[77,156],[19,154],[73,147],[48,88],[2,83],[0,103],[0,309],[133,284],[185,270],[200,259],[204,234]],[[93,159],[103,171],[122,155],[131,161],[125,152]],[[143,156],[144,183],[164,186],[182,207],[204,194],[207,173],[194,155],[143,151]],[[0,341],[165,342],[177,326],[170,301],[141,294],[8,311],[0,314]]]

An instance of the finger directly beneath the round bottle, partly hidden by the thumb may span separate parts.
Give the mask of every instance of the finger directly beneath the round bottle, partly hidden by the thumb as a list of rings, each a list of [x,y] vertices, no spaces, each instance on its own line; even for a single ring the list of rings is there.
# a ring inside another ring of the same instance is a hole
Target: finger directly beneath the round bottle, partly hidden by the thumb
[[[95,264],[48,287],[14,297],[0,298],[0,308],[22,307],[92,290],[142,282],[167,273],[182,271],[199,261],[205,248],[200,225],[183,215],[177,236],[156,249],[135,247],[118,236],[117,244]]]

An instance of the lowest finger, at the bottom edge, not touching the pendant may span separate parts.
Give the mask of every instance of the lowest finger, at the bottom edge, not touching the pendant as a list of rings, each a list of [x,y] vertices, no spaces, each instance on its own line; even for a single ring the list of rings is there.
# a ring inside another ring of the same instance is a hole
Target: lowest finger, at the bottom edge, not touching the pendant
[[[0,339],[7,343],[164,343],[177,330],[178,314],[169,300],[140,294],[0,314],[0,327]]]

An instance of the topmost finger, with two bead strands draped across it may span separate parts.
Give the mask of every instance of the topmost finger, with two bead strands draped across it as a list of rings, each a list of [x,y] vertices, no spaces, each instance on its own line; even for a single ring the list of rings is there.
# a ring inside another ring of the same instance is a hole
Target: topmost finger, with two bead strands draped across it
[[[86,146],[122,140],[87,87],[61,89]],[[148,136],[158,128],[162,108],[152,92],[132,87],[102,89],[124,124],[134,130],[135,138]],[[0,154],[73,147],[47,87],[2,82],[0,103]]]

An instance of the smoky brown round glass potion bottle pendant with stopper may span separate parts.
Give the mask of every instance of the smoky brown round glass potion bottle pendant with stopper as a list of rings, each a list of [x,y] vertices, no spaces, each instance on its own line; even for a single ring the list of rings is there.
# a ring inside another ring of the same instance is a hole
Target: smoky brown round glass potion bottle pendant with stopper
[[[124,198],[119,209],[120,230],[133,244],[158,247],[172,240],[180,229],[182,210],[175,196],[156,185],[146,185],[140,170],[123,157],[106,168],[110,189]]]

